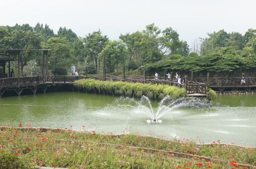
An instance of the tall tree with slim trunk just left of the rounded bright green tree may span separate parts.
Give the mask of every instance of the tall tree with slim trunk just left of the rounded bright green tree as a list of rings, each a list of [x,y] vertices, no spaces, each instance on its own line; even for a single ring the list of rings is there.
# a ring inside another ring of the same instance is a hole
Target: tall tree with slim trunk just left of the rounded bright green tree
[[[92,34],[88,34],[85,38],[83,38],[84,49],[88,55],[88,59],[94,61],[95,69],[97,73],[100,71],[100,60],[98,54],[103,50],[106,46],[106,42],[109,41],[109,38],[104,35],[101,35],[100,30],[97,32],[93,32]]]

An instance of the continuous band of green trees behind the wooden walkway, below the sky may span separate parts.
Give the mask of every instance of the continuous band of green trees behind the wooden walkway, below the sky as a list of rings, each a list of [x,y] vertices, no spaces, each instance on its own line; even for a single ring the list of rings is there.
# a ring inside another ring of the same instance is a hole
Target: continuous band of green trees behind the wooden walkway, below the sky
[[[55,67],[69,70],[76,66],[80,70],[87,67],[92,73],[102,73],[104,61],[108,72],[123,67],[126,70],[145,69],[148,74],[164,70],[184,73],[255,70],[255,41],[254,29],[248,29],[244,35],[220,30],[208,33],[189,49],[187,42],[181,40],[172,27],[160,30],[154,23],[146,25],[142,31],[121,34],[118,40],[110,40],[100,30],[81,38],[71,29],[59,27],[54,34],[49,25],[39,22],[35,27],[29,24],[0,26],[0,48],[51,49],[48,53],[50,70]],[[19,65],[22,75],[26,67],[27,74],[40,72],[41,63],[39,52],[24,50]],[[17,64],[13,66],[15,70]]]

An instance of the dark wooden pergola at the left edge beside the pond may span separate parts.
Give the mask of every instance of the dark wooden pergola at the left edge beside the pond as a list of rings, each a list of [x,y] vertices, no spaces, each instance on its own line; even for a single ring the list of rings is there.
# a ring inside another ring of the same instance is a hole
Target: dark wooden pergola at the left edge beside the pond
[[[0,49],[0,78],[12,77],[10,61],[14,61],[11,55],[18,55],[18,77],[20,76],[20,51],[42,51],[43,53],[43,75],[48,70],[48,51],[51,49]],[[6,62],[9,62],[9,72],[5,72]]]

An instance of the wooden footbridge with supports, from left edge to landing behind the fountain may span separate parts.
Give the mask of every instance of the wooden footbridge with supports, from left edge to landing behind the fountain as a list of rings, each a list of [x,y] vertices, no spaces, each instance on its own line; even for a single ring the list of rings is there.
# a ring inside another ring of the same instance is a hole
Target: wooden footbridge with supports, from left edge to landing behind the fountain
[[[96,80],[111,80],[111,81],[124,81],[124,82],[140,82],[158,85],[172,85],[177,86],[178,83],[176,79],[166,80],[163,77],[154,79],[154,77],[147,76],[79,76],[79,79],[92,78]],[[24,90],[31,90],[33,94],[36,93],[38,89],[41,89],[44,93],[49,87],[56,85],[69,85],[69,87],[74,90],[74,80],[75,76],[65,76],[65,75],[42,75],[42,76],[32,76],[32,77],[10,77],[10,78],[0,78],[0,97],[6,91],[15,91],[19,96]],[[187,85],[181,85],[187,89],[188,94],[205,95],[207,92],[207,85],[201,82],[189,83]]]

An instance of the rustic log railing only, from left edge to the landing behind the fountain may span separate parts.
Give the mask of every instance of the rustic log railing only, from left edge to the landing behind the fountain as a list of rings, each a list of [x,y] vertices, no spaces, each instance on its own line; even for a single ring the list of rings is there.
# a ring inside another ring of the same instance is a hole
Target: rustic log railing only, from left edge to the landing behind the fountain
[[[139,82],[157,85],[172,85],[178,87],[176,79],[172,81],[170,79],[164,79],[164,77],[158,77],[155,79],[152,76],[147,76],[143,79],[143,76],[79,76],[79,79],[92,78],[101,81],[124,81],[124,82]],[[33,76],[33,77],[15,77],[15,78],[0,78],[0,90],[2,88],[9,87],[20,87],[20,86],[30,86],[30,85],[41,85],[45,83],[73,83],[75,81],[75,76],[65,76],[65,75],[45,75],[45,76]],[[185,85],[180,85],[180,88],[185,88]],[[187,84],[187,93],[201,93],[205,94],[207,92],[206,83],[201,82],[189,82]]]

